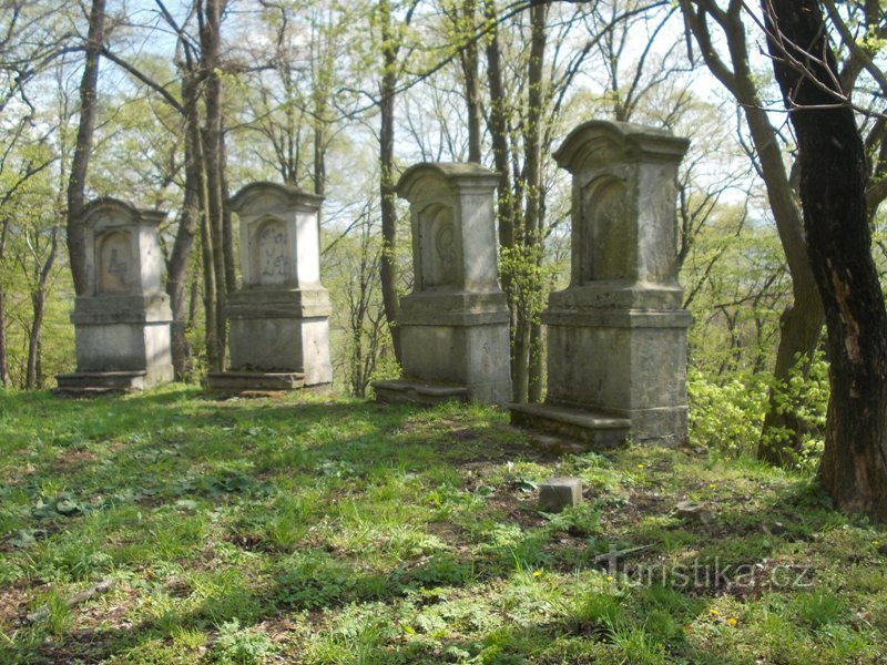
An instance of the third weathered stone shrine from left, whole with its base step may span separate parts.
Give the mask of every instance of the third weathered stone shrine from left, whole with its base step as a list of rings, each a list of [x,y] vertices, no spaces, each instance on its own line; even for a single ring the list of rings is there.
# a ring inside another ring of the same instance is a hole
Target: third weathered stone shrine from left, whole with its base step
[[[416,164],[397,184],[410,205],[412,291],[398,327],[404,378],[373,383],[389,402],[511,398],[508,305],[496,255],[498,176],[477,164]]]

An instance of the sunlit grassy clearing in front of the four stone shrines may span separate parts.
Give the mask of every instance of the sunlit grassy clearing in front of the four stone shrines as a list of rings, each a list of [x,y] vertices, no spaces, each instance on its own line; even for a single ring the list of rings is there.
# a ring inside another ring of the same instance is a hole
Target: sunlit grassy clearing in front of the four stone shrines
[[[887,532],[747,460],[181,386],[0,393],[0,450],[3,663],[887,662]]]

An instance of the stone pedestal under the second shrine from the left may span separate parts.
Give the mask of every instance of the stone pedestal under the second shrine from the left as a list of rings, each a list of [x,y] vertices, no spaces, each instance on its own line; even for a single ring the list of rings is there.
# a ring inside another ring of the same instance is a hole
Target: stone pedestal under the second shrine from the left
[[[251,389],[248,381],[254,377],[259,390],[271,389],[266,383],[283,376],[298,375],[302,385],[281,390],[333,382],[326,289],[235,291],[226,315],[231,326],[231,371],[223,372],[226,380]]]

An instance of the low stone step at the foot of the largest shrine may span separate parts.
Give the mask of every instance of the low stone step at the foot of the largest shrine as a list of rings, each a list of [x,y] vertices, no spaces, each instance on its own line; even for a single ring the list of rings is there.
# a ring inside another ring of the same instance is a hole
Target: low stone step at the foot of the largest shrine
[[[631,431],[628,418],[555,405],[510,405],[511,424],[577,441],[597,450],[622,446]]]

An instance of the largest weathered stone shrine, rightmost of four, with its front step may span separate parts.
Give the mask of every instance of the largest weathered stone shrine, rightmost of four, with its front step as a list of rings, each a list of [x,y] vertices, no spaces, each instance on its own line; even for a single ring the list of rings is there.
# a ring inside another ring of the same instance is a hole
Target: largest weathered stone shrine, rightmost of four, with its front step
[[[686,139],[587,122],[554,153],[573,175],[572,268],[552,293],[548,396],[512,422],[598,446],[686,439],[686,329],[675,256],[675,175]]]

